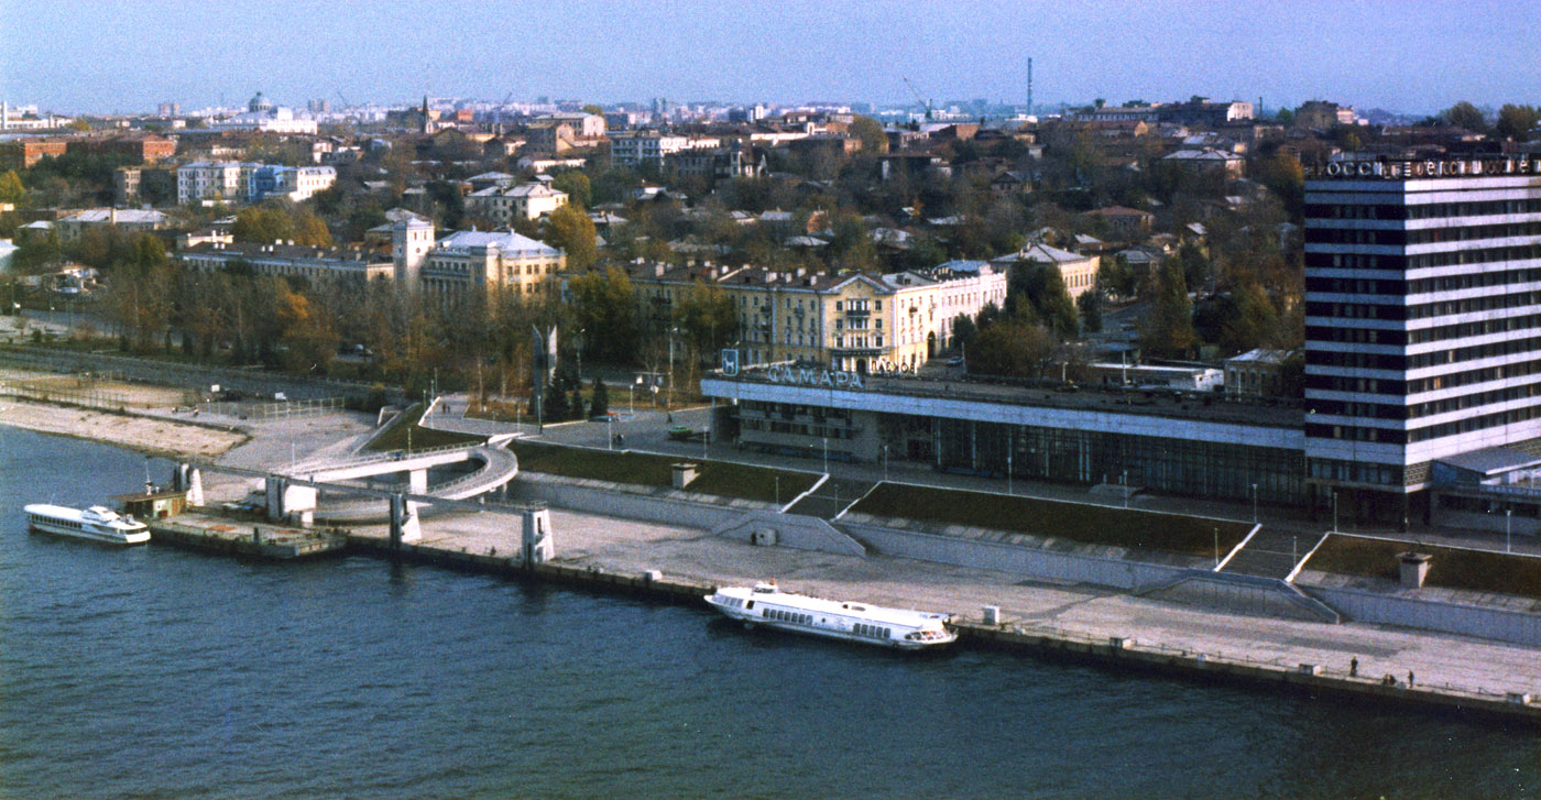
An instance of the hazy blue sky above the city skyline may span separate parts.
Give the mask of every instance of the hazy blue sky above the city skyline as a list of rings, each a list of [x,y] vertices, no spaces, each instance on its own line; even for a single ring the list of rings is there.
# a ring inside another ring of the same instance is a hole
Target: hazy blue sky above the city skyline
[[[1541,0],[0,0],[0,99],[1541,102]]]

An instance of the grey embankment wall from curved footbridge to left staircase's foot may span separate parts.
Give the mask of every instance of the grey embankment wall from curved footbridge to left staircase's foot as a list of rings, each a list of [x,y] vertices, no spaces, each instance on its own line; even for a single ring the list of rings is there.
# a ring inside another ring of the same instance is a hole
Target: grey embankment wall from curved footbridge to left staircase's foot
[[[603,516],[698,527],[744,543],[755,541],[757,533],[774,530],[774,544],[781,547],[844,555],[866,553],[860,543],[835,530],[829,523],[815,516],[777,513],[764,503],[704,503],[690,499],[687,492],[666,489],[636,492],[618,484],[535,473],[521,473],[519,481],[509,484],[509,498],[538,499],[558,509]]]

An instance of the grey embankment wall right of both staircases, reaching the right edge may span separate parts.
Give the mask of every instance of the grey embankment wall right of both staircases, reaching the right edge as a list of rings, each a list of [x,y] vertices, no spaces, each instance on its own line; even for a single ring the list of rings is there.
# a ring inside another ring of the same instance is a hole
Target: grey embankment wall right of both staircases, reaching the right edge
[[[1395,597],[1364,589],[1296,586],[1356,623],[1395,624],[1541,647],[1538,613]]]

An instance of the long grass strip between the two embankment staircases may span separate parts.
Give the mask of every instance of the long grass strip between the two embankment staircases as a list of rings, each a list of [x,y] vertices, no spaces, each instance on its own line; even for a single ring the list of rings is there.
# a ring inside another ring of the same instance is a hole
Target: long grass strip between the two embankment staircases
[[[1216,529],[1225,553],[1253,527],[1251,523],[908,484],[881,484],[851,510],[1202,556],[1214,555]]]

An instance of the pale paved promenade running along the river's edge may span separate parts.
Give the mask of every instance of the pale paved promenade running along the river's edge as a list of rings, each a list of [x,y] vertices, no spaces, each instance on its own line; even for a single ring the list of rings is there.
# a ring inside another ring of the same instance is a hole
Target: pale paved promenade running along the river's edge
[[[979,621],[983,606],[1000,606],[1005,621],[1025,632],[1105,643],[1133,640],[1136,647],[1210,660],[1261,663],[1281,669],[1314,664],[1319,674],[1348,678],[1358,660],[1359,680],[1395,675],[1415,689],[1449,687],[1502,697],[1541,697],[1536,650],[1490,641],[1368,624],[1325,624],[1228,615],[1160,603],[1088,586],[1051,584],[1020,575],[952,567],[891,556],[841,556],[780,547],[752,547],[695,529],[552,510],[558,561],[636,575],[656,569],[667,576],[721,586],[777,578],[791,590],[823,597],[952,612]],[[384,526],[359,533],[387,536]],[[424,519],[421,544],[447,550],[513,553],[516,515],[442,515]]]

